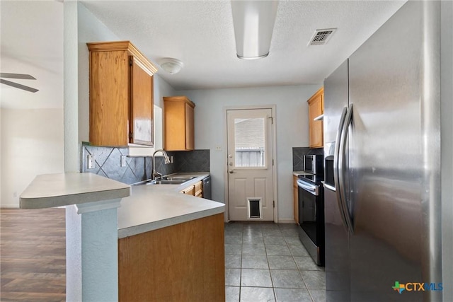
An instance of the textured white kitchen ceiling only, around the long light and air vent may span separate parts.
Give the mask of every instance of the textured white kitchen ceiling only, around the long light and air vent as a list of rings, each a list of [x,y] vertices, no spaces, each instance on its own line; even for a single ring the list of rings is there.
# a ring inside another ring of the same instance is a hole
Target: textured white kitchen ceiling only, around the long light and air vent
[[[159,75],[181,89],[322,83],[404,1],[280,1],[270,54],[236,57],[230,1],[81,1],[152,62],[175,57],[179,74]],[[314,31],[338,28],[326,45]]]

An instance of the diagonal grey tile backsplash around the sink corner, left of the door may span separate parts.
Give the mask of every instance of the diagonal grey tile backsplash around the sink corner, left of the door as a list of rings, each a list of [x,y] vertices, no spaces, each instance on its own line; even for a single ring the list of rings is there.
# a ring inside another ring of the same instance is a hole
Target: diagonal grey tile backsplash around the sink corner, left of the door
[[[151,156],[129,156],[128,148],[81,146],[80,171],[102,175],[106,178],[132,184],[151,178]],[[209,172],[210,150],[168,151],[173,163],[164,164],[164,157],[156,153],[156,170],[162,175],[177,172]],[[94,168],[88,169],[88,155],[94,156]],[[121,166],[121,156],[126,156],[126,165]]]

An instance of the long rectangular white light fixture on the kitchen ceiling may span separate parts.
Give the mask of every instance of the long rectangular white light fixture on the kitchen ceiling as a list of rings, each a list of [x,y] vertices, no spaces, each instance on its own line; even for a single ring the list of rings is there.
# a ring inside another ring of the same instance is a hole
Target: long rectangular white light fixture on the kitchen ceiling
[[[278,1],[231,0],[236,52],[239,59],[267,57]]]

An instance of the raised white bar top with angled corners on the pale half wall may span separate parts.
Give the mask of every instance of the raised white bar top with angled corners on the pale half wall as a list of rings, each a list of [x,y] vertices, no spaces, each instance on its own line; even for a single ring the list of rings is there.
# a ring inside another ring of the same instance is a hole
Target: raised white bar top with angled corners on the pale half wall
[[[130,185],[93,173],[38,175],[23,191],[21,209],[44,209],[118,199],[130,195]]]

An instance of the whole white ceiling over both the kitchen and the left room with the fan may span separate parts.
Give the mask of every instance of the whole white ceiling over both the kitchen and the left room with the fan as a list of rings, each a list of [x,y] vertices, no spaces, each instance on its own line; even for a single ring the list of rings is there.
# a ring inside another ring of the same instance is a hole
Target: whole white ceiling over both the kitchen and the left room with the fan
[[[151,62],[182,60],[179,74],[158,73],[176,90],[185,90],[322,83],[404,2],[280,1],[270,54],[253,61],[236,57],[230,1],[81,4]],[[61,0],[0,0],[0,70],[31,74],[36,81],[17,82],[40,89],[28,93],[1,84],[2,108],[62,107],[63,6]],[[308,47],[321,28],[338,30],[326,45]]]

